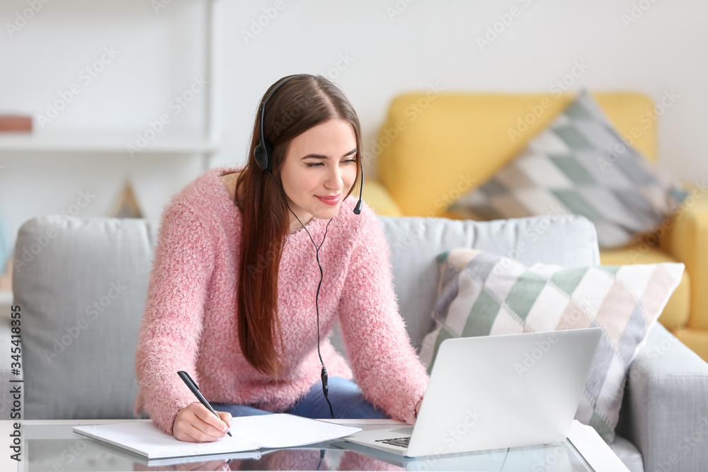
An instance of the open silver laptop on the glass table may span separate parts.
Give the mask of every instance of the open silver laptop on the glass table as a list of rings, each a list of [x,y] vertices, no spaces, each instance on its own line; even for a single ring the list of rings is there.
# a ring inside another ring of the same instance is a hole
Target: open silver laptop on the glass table
[[[447,339],[415,426],[343,439],[409,457],[562,442],[601,335],[585,328]]]

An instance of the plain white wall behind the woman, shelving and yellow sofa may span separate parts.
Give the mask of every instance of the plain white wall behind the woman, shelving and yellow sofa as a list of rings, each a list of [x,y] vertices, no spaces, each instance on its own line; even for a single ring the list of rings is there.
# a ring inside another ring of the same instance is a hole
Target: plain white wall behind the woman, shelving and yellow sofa
[[[52,0],[11,38],[6,23],[28,1],[35,0],[0,4],[0,113],[44,113],[48,101],[78,82],[81,93],[45,129],[137,132],[164,113],[193,76],[205,74],[205,0],[154,0],[167,3],[157,12],[150,0]],[[705,2],[281,1],[276,10],[275,0],[215,0],[212,85],[221,147],[213,165],[245,162],[258,100],[287,74],[319,73],[339,84],[358,110],[368,151],[398,93],[428,84],[446,91],[542,92],[582,62],[588,69],[571,90],[634,90],[654,100],[673,90],[679,98],[658,120],[660,164],[680,178],[708,178]],[[391,16],[396,5],[402,11]],[[641,16],[625,24],[622,15],[631,16],[633,6]],[[481,50],[477,38],[512,7],[518,16]],[[277,15],[246,42],[242,30],[265,14],[263,8]],[[84,85],[81,70],[111,46],[120,54]],[[168,131],[201,132],[203,98]],[[135,182],[146,216],[159,218],[169,197],[198,175],[201,161],[0,153],[0,166],[0,212],[15,234],[35,214],[67,209],[87,188],[96,198],[81,216],[105,214],[125,175]]]

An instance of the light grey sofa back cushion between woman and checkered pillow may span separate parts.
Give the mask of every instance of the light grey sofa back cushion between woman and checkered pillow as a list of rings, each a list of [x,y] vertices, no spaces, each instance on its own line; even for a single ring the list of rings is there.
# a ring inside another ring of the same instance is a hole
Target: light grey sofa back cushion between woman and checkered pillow
[[[593,224],[584,217],[451,221],[445,218],[379,217],[391,253],[394,288],[413,347],[433,329],[438,293],[435,258],[452,248],[478,248],[524,263],[581,267],[600,263]],[[336,336],[333,344],[338,346]]]

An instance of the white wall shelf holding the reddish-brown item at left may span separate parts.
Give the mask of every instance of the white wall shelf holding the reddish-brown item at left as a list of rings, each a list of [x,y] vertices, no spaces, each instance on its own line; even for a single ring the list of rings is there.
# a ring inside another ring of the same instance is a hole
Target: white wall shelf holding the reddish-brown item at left
[[[145,132],[141,134],[144,136]],[[152,134],[150,134],[152,135]],[[211,154],[217,144],[203,137],[183,134],[158,134],[151,141],[137,145],[137,132],[10,132],[0,133],[0,152],[105,152],[125,153],[130,156],[128,145],[139,149],[140,154]]]

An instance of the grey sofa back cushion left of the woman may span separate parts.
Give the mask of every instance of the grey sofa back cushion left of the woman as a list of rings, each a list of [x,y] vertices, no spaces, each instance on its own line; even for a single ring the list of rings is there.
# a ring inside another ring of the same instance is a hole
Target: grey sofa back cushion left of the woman
[[[23,418],[134,418],[135,345],[156,225],[40,216],[18,231]]]

